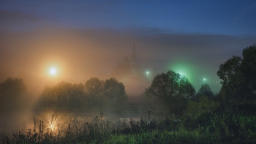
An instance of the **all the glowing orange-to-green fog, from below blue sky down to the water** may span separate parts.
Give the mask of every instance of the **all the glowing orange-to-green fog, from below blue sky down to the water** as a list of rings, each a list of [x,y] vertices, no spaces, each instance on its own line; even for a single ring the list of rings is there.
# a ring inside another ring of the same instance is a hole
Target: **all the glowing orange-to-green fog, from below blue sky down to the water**
[[[61,81],[84,84],[91,77],[98,77],[99,80],[116,77],[124,83],[131,105],[142,101],[145,88],[150,86],[157,74],[182,65],[191,73],[187,77],[196,91],[203,84],[201,76],[205,75],[212,90],[218,92],[220,83],[216,72],[219,64],[233,55],[241,55],[242,48],[255,42],[255,39],[245,36],[176,34],[149,28],[115,31],[51,27],[33,31],[1,30],[0,41],[1,83],[11,77],[22,78],[26,85],[26,106],[20,102],[23,106],[1,109],[1,126],[11,133],[10,127],[24,130],[24,127],[29,129],[33,126],[34,107],[42,91]],[[138,69],[135,73],[121,67],[125,58],[131,58],[132,50],[137,56]],[[56,67],[56,75],[49,75],[50,67]],[[150,75],[146,75],[146,71]],[[128,111],[125,116],[141,115],[137,110],[133,114]],[[62,111],[61,115],[63,113],[70,114]],[[118,117],[112,112],[105,113]],[[99,115],[99,111],[86,115]],[[37,115],[38,119],[43,117]]]

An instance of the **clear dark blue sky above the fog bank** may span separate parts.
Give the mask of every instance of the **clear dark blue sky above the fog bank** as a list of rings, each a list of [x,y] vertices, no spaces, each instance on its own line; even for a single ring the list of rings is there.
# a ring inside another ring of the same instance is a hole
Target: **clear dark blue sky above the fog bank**
[[[14,26],[15,29],[31,29],[41,25],[54,25],[74,29],[155,28],[175,33],[256,34],[256,1],[253,0],[8,0],[1,1],[0,4],[1,12],[18,12],[24,17],[26,15],[36,19],[28,20],[29,22],[26,24],[20,23],[20,25]],[[3,16],[2,14],[1,17]],[[13,27],[8,26],[8,29],[13,29]]]

